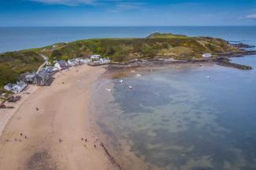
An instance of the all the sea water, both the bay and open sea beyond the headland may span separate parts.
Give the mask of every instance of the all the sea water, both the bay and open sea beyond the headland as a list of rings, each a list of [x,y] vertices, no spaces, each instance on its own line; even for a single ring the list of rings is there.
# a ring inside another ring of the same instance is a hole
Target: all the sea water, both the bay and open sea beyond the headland
[[[2,27],[0,51],[156,31],[256,45],[256,27],[242,26]],[[92,128],[124,169],[255,170],[256,56],[232,62],[254,69],[187,64],[107,72],[94,85]]]

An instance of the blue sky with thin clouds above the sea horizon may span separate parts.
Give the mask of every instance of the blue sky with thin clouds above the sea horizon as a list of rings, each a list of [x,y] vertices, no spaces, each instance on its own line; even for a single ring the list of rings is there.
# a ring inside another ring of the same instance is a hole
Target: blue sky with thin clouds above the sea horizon
[[[256,0],[0,0],[0,26],[256,25]]]

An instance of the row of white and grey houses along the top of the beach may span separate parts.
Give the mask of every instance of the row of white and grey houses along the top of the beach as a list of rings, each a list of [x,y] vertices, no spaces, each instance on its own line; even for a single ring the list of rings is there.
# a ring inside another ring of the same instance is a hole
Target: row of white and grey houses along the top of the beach
[[[54,64],[46,61],[46,65],[39,69],[36,72],[26,72],[24,74],[20,74],[18,81],[16,84],[8,83],[4,86],[4,89],[8,92],[19,94],[23,92],[24,89],[28,87],[28,85],[38,85],[45,86],[50,85],[52,82],[52,76],[56,74],[58,71],[63,71],[65,69],[69,69],[69,67],[77,67],[82,64],[88,64],[91,66],[98,66],[109,63],[109,58],[102,57],[100,55],[92,55],[89,57],[81,57],[81,58],[73,58],[70,60],[57,60],[54,61]],[[9,95],[3,102],[0,104],[0,108],[13,108],[6,107],[4,103],[8,101],[9,103],[15,103],[20,100],[20,96]]]

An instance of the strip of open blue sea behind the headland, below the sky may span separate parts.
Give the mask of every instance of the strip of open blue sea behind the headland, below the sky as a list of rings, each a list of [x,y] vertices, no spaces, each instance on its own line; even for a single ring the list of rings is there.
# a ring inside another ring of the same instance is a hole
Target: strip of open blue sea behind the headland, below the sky
[[[0,52],[39,48],[88,38],[145,38],[156,31],[251,42],[256,26],[0,27]]]

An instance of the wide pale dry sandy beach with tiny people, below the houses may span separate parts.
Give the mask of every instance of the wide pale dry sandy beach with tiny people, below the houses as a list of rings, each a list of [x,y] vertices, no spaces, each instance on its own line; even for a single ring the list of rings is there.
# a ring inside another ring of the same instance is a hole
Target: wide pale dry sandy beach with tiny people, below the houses
[[[0,117],[0,130],[5,127],[1,169],[119,169],[89,125],[91,86],[104,72],[86,65],[62,71],[52,85],[38,87],[20,101],[17,110],[6,110],[8,116]]]

